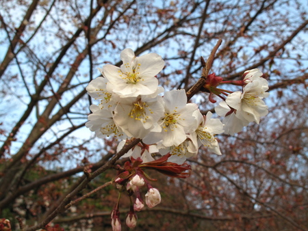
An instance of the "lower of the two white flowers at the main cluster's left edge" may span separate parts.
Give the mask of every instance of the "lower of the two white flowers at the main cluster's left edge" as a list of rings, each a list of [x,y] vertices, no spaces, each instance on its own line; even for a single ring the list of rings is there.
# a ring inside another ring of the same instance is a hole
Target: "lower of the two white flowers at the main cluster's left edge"
[[[88,116],[88,122],[86,122],[86,127],[90,131],[94,131],[97,137],[105,137],[114,135],[120,139],[125,139],[126,135],[123,131],[114,124],[112,118],[112,112],[107,109],[100,109],[97,105],[91,105],[90,110],[92,114]]]

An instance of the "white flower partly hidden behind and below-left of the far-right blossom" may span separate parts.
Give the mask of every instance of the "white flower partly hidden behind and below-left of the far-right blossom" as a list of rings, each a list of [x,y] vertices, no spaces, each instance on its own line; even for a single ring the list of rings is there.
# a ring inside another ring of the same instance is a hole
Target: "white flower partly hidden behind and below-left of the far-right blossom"
[[[238,118],[234,112],[230,113],[231,108],[224,101],[220,102],[219,105],[215,107],[215,111],[218,116],[225,116],[222,120],[225,134],[233,135],[234,133],[239,133],[244,126],[249,124],[244,118]]]

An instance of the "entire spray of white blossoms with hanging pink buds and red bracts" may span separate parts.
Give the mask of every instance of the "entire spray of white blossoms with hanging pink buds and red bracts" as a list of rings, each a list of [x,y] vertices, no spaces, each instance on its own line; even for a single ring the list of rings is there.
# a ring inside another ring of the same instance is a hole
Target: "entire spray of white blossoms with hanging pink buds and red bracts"
[[[164,68],[164,60],[159,55],[149,53],[136,57],[131,49],[125,49],[120,58],[123,61],[120,67],[103,66],[99,69],[103,77],[94,79],[86,88],[92,98],[100,100],[99,105],[90,106],[92,113],[86,126],[97,137],[114,135],[122,139],[118,149],[127,139],[142,139],[123,156],[131,157],[133,165],[127,164],[130,167],[126,166],[125,172],[118,174],[115,180],[130,195],[136,194],[135,204],[131,205],[127,216],[127,225],[133,227],[134,223],[136,226],[135,211],[144,206],[139,187],[144,185],[147,176],[142,168],[150,166],[168,176],[185,177],[183,171],[188,168],[183,163],[187,158],[195,157],[201,146],[221,154],[216,134],[237,133],[249,122],[259,123],[260,117],[268,113],[262,100],[268,96],[268,83],[257,69],[245,72],[242,81],[223,82],[221,77],[209,74],[203,90],[210,93],[211,102],[215,102],[213,94],[223,99],[216,107],[216,113],[224,116],[220,122],[211,118],[211,112],[203,116],[198,105],[187,103],[185,90],[164,92],[156,78],[156,74]],[[217,86],[222,83],[241,85],[243,90],[229,92],[218,89]],[[155,160],[152,153],[161,154],[163,162]],[[162,163],[164,167],[160,166]],[[151,187],[149,179],[146,186],[146,204],[151,208],[160,202],[160,195],[157,189]],[[117,204],[112,212],[114,230],[120,227],[118,215]]]

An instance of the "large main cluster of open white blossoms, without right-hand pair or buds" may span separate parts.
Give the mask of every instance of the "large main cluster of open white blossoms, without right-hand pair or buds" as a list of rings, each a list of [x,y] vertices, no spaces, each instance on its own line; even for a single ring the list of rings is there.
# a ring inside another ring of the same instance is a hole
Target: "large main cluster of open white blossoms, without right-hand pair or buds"
[[[135,57],[131,49],[120,55],[120,68],[107,64],[100,69],[103,77],[91,81],[88,94],[99,105],[91,105],[92,114],[86,126],[97,137],[114,135],[125,142],[140,138],[150,146],[145,152],[135,148],[125,157],[141,157],[153,161],[152,152],[170,153],[168,161],[182,164],[188,157],[196,156],[203,144],[216,154],[221,154],[214,135],[223,132],[219,119],[211,112],[203,116],[194,103],[187,103],[185,90],[164,92],[155,77],[164,60],[155,53]]]

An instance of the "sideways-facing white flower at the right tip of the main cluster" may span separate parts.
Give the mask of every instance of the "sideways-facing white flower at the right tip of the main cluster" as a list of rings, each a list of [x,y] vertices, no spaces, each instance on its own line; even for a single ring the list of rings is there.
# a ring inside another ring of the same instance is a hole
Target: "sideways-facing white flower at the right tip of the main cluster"
[[[202,144],[206,146],[211,152],[218,155],[221,154],[219,144],[214,135],[223,133],[223,124],[219,119],[212,119],[211,111],[207,112],[207,116],[203,116],[200,111],[195,111],[198,128],[192,133],[192,137],[197,139],[198,147]]]

